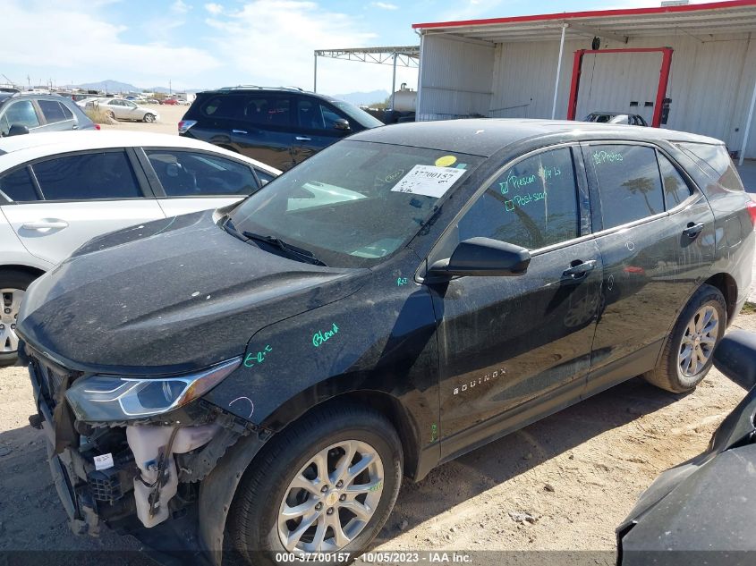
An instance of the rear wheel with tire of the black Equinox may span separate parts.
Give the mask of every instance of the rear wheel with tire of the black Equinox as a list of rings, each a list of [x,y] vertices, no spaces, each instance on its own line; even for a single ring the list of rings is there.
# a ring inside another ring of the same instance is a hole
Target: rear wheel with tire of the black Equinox
[[[643,374],[643,378],[672,393],[692,391],[709,373],[726,325],[727,307],[722,292],[711,285],[701,285],[677,318],[658,367]]]

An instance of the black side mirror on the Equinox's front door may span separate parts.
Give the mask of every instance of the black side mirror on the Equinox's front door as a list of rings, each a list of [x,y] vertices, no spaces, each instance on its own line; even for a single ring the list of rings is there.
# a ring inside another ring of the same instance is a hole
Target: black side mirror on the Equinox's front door
[[[522,275],[531,263],[531,252],[520,246],[490,238],[459,242],[451,258],[439,259],[429,267],[431,278],[453,275]]]

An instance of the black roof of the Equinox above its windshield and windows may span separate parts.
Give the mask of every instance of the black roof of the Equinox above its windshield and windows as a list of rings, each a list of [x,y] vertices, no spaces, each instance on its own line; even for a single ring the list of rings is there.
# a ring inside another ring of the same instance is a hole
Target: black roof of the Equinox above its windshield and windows
[[[471,118],[436,122],[405,122],[372,128],[349,139],[375,141],[418,148],[437,149],[475,156],[492,156],[499,149],[525,139],[543,136],[561,141],[582,139],[626,139],[629,141],[689,141],[708,144],[724,142],[687,133],[642,126],[614,125],[569,120],[526,120],[515,118]],[[558,134],[562,134],[559,136]]]

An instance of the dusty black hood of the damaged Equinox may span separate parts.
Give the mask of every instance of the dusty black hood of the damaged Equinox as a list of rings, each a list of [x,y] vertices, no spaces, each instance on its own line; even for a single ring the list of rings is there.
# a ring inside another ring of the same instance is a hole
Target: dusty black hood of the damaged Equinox
[[[260,328],[342,299],[368,276],[268,253],[206,211],[90,241],[32,284],[18,331],[72,369],[178,373],[242,355]]]

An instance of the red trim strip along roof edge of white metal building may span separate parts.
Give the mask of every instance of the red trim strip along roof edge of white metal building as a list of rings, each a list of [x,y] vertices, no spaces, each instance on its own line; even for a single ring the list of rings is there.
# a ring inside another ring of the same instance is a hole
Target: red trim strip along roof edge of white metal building
[[[485,20],[436,21],[413,23],[412,29],[429,30],[433,28],[459,28],[463,26],[484,26],[494,23],[522,23],[525,21],[572,20],[574,18],[608,18],[611,16],[633,16],[659,13],[704,12],[719,8],[737,8],[756,6],[756,0],[733,0],[730,2],[709,2],[708,4],[686,4],[682,6],[664,6],[654,8],[624,8],[616,10],[592,10],[590,12],[542,13],[531,16],[511,16],[508,18],[488,18]]]

